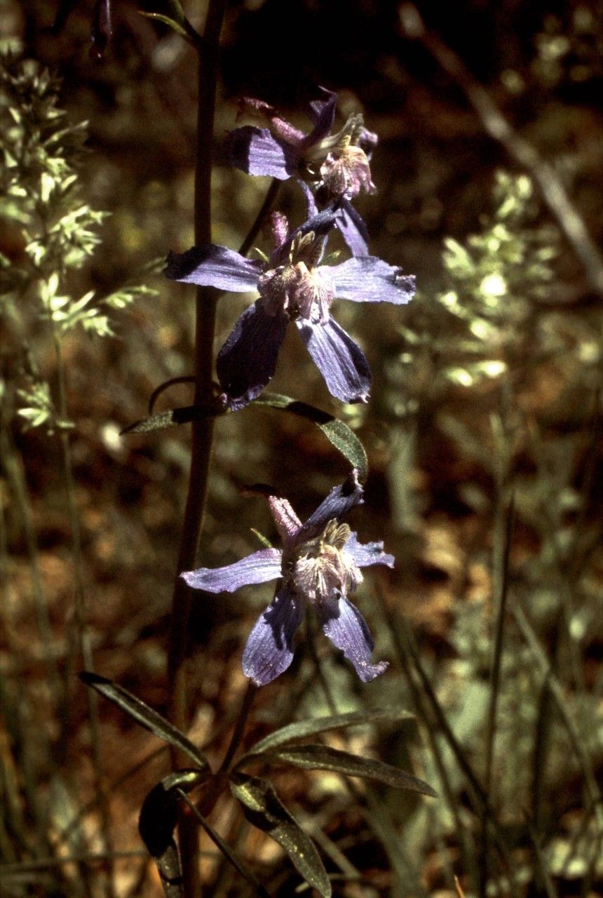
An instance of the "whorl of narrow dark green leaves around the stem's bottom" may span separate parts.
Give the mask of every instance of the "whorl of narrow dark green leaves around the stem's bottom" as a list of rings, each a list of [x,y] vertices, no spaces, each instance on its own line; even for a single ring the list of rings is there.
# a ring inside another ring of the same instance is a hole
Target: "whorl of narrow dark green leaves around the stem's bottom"
[[[197,746],[175,726],[117,683],[87,672],[80,674],[80,679],[125,711],[144,729],[185,753],[198,765],[194,769],[170,773],[154,786],[144,799],[138,824],[144,844],[155,859],[162,876],[164,893],[167,898],[180,898],[183,894],[181,866],[173,835],[178,822],[179,802],[188,802],[188,792],[214,775],[209,762]],[[330,770],[343,776],[371,779],[394,788],[411,789],[435,796],[433,788],[423,780],[416,779],[391,764],[342,752],[322,743],[296,744],[300,739],[346,726],[377,721],[392,722],[412,717],[406,711],[374,709],[301,720],[260,739],[249,752],[242,755],[229,773],[232,796],[240,803],[245,818],[281,846],[303,879],[317,889],[323,898],[330,898],[331,884],[313,841],[284,807],[272,784],[267,779],[250,775],[243,768],[260,763],[293,765],[303,770]],[[250,883],[256,885],[259,893],[266,894],[263,886],[257,884],[255,876],[233,854],[229,846],[223,843],[197,808],[192,804],[190,806],[229,862]]]

